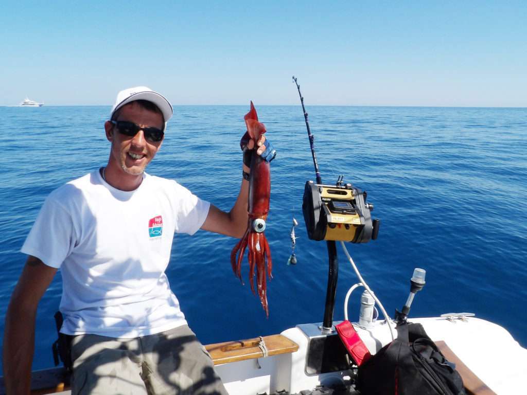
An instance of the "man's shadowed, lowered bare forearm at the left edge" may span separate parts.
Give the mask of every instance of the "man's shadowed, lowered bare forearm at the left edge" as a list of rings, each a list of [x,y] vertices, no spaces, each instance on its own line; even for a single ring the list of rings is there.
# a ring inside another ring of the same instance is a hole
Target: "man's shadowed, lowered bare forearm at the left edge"
[[[4,384],[9,395],[30,392],[35,316],[36,310],[18,309],[15,297],[11,299],[5,320],[3,350]]]

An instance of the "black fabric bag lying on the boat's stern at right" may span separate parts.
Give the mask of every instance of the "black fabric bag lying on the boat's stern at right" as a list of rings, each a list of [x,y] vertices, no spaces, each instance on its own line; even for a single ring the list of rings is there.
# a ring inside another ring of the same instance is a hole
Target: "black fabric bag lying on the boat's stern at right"
[[[465,395],[463,380],[421,324],[399,322],[397,339],[360,365],[363,395]]]

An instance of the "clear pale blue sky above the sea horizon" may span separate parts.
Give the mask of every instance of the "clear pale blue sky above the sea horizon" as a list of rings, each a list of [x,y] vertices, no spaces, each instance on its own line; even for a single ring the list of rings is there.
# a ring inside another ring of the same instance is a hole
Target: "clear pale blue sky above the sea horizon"
[[[523,1],[34,1],[0,7],[0,105],[527,106]]]

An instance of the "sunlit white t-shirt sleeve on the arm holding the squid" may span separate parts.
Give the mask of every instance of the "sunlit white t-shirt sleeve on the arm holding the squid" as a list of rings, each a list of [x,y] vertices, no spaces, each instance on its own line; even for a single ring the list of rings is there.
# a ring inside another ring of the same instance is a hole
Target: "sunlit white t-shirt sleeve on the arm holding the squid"
[[[186,187],[174,181],[174,197],[177,200],[176,233],[196,233],[209,214],[210,203],[201,200]]]

